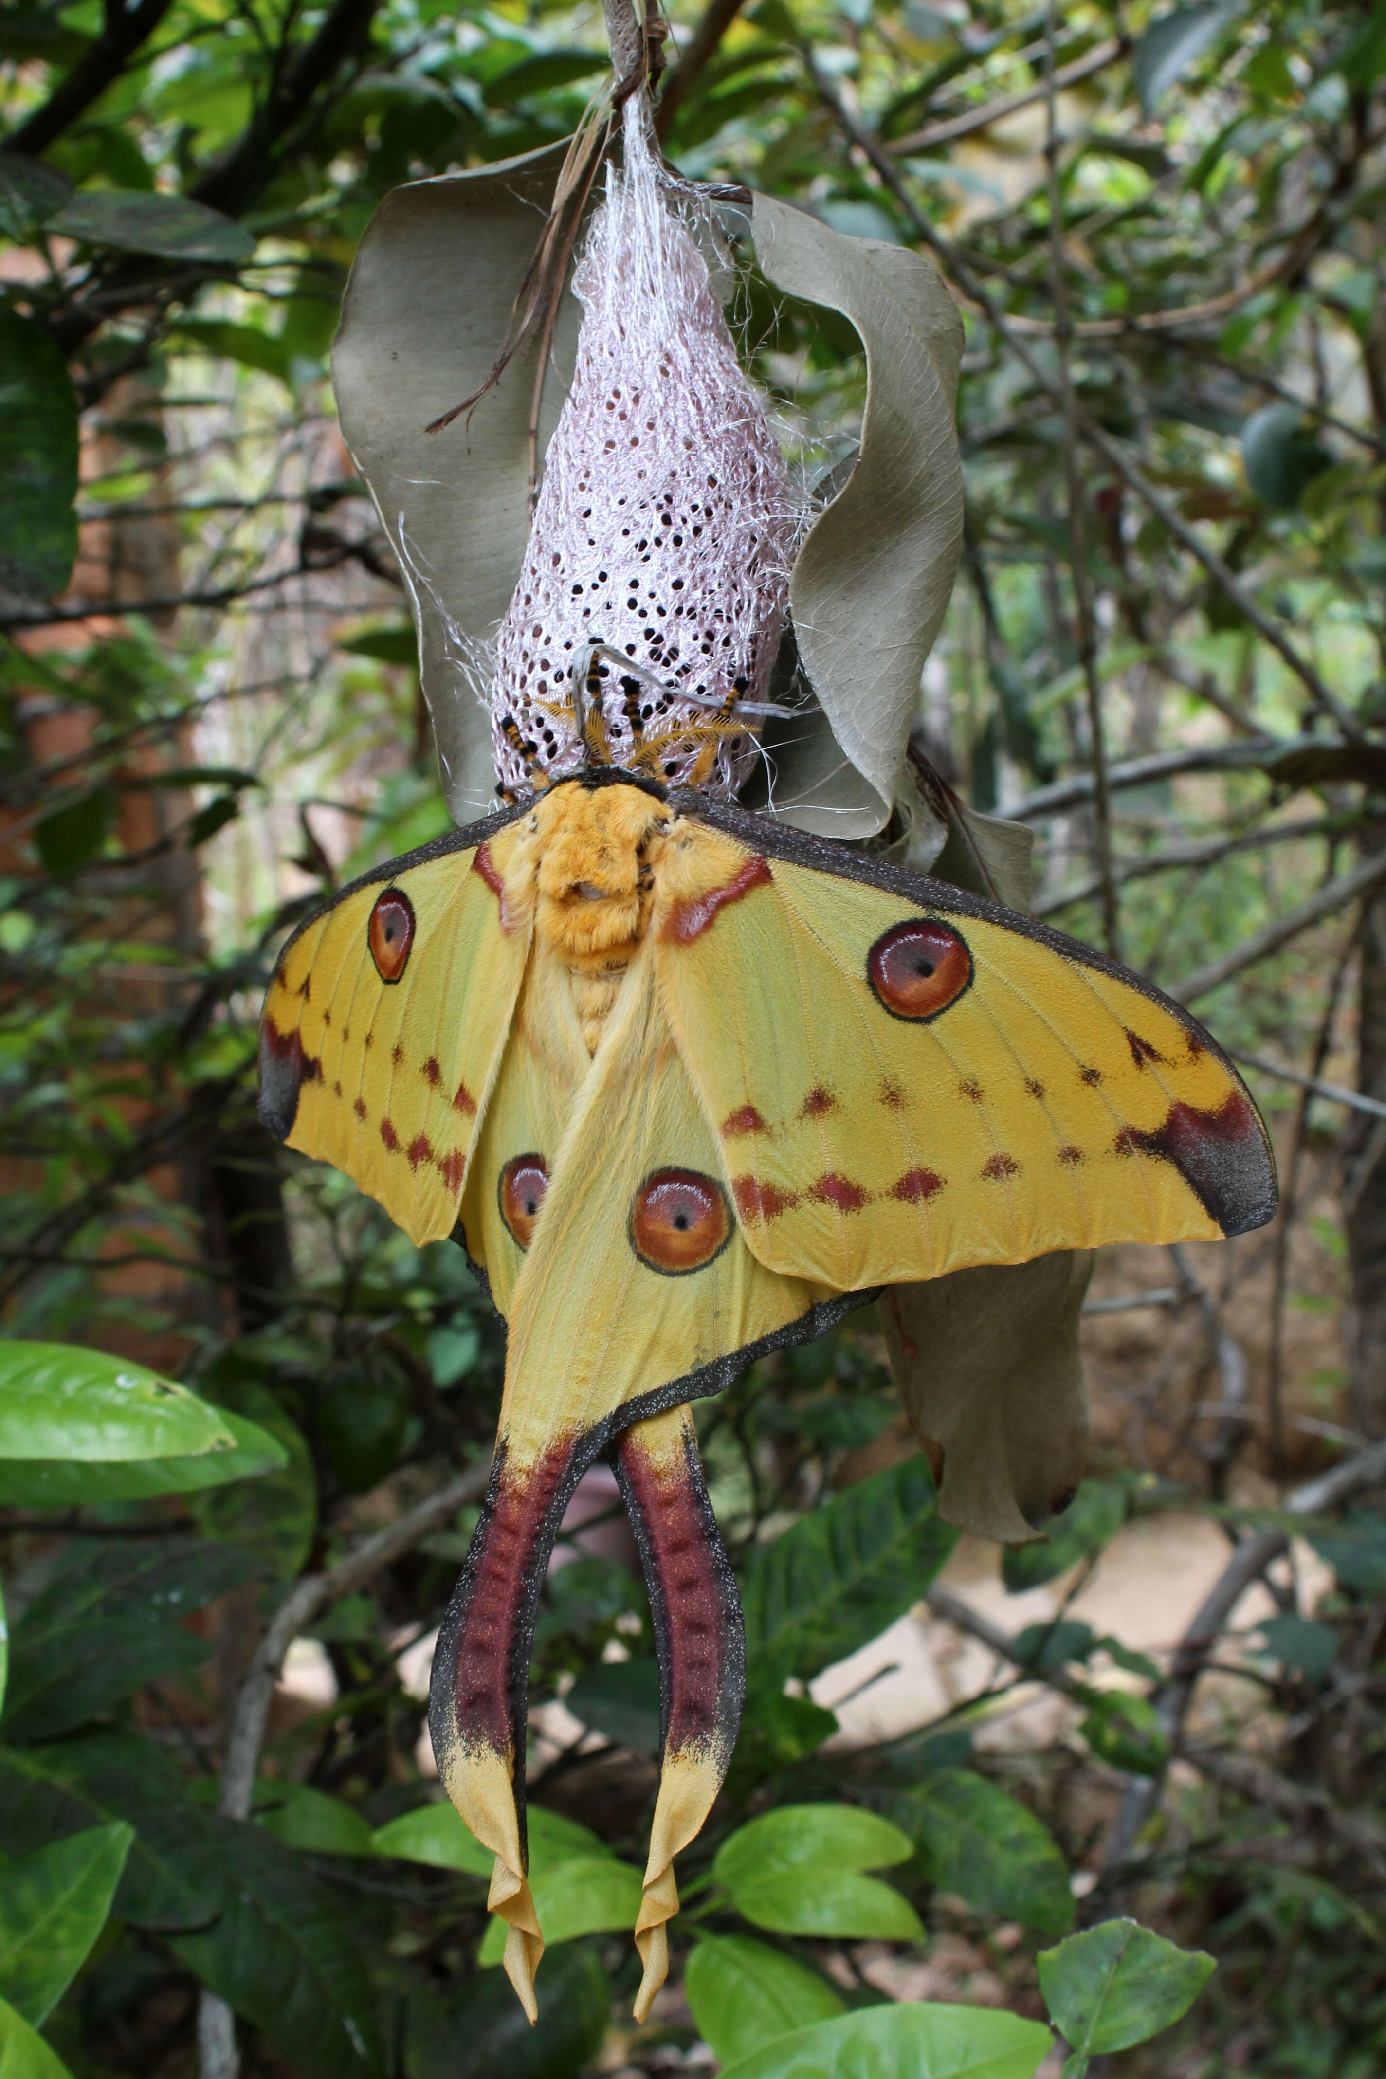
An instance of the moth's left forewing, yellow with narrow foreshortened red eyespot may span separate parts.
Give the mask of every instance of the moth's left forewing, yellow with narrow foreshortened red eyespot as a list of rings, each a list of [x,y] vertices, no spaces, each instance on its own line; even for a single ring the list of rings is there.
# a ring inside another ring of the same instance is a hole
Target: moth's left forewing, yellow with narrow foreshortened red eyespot
[[[260,1027],[270,1131],[345,1170],[416,1243],[453,1231],[528,954],[488,846],[430,852],[345,890],[293,936]]]

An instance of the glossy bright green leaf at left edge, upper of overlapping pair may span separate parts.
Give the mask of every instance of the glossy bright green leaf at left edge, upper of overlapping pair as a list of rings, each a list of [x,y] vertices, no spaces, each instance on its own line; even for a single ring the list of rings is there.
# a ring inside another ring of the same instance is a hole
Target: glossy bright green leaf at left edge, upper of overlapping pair
[[[139,1459],[235,1451],[220,1410],[102,1349],[0,1343],[0,1459]]]

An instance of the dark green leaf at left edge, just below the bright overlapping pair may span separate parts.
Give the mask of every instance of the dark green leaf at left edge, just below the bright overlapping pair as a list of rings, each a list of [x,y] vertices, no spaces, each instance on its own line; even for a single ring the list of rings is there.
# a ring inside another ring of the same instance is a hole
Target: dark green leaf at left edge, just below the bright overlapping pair
[[[15,1626],[6,1738],[73,1732],[145,1682],[202,1665],[210,1642],[177,1620],[251,1570],[245,1553],[202,1538],[73,1541]]]

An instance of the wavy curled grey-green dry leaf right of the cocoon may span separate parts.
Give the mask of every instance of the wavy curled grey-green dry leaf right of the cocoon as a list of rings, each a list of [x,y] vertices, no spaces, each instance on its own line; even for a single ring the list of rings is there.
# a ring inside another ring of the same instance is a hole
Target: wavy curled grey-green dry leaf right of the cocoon
[[[783,732],[798,742],[775,748],[767,734],[777,813],[821,836],[867,838],[889,817],[962,551],[962,318],[921,254],[848,237],[763,193],[752,233],[767,279],[842,312],[867,353],[858,464],[790,578],[794,640],[831,736],[806,734],[802,717]]]

